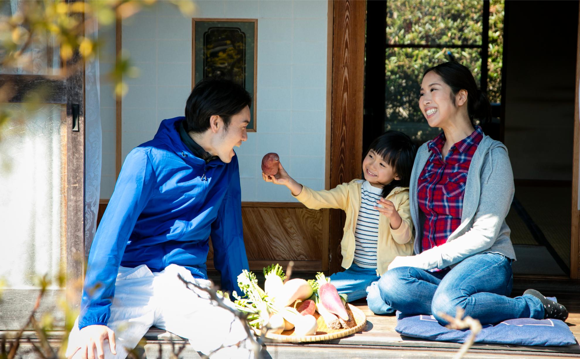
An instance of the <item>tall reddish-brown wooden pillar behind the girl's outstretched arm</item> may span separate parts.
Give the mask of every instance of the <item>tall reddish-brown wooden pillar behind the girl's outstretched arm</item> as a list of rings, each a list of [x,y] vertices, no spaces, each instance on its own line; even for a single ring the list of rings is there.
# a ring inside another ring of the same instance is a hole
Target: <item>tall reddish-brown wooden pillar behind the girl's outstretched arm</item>
[[[361,175],[366,1],[333,3],[330,187]],[[339,272],[345,214],[331,210],[329,270]]]

